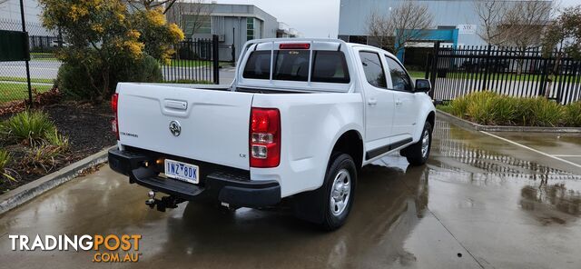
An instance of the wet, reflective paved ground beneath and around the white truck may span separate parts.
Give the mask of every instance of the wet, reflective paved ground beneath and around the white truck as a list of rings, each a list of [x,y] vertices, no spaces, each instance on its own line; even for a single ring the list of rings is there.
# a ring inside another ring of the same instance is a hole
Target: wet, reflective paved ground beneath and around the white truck
[[[160,213],[103,166],[0,215],[0,267],[581,268],[581,134],[495,134],[545,154],[438,121],[428,165],[363,168],[333,233],[285,208]],[[94,252],[11,251],[8,234],[143,238],[138,263],[95,264]]]

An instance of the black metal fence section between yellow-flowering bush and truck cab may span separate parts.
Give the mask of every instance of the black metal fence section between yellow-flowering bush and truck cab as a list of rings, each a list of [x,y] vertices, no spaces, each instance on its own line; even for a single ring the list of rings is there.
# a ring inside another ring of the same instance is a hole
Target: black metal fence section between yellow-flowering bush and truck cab
[[[192,39],[174,45],[169,63],[162,63],[164,82],[219,84],[220,62],[218,36]]]

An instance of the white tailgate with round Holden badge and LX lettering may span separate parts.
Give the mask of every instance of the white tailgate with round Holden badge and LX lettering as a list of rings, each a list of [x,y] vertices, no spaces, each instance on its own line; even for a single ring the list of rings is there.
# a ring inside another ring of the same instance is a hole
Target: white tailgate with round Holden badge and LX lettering
[[[137,84],[120,84],[117,92],[121,144],[250,169],[252,94]]]

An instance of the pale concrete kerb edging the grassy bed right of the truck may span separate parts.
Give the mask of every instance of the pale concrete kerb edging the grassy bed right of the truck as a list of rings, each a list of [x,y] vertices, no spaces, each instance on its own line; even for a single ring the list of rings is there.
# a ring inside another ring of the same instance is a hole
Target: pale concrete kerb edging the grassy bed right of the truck
[[[485,132],[515,132],[515,133],[581,133],[581,127],[538,127],[538,126],[497,126],[478,125],[473,122],[437,110],[438,116],[464,128]]]

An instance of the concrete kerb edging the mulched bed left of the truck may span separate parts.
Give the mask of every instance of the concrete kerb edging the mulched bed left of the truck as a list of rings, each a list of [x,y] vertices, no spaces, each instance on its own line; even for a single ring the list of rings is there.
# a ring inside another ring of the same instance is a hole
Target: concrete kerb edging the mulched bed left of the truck
[[[87,168],[107,162],[107,152],[109,149],[110,148],[105,148],[96,154],[90,155],[83,160],[68,165],[52,174],[44,175],[31,183],[24,184],[8,193],[0,195],[0,214],[4,214],[9,210],[34,199],[36,196],[44,194],[45,192],[74,179]]]

